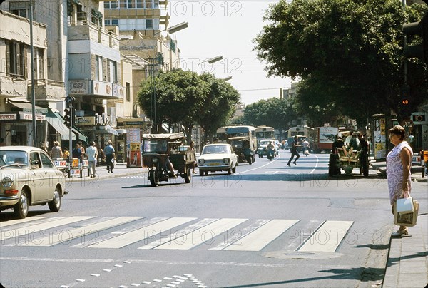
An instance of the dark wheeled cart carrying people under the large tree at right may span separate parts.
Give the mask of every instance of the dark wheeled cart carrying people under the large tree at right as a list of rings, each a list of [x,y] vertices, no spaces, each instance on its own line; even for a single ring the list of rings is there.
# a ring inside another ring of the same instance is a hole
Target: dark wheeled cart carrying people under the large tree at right
[[[369,175],[369,156],[364,151],[347,151],[337,148],[336,153],[330,154],[328,162],[328,175],[340,174],[340,169],[345,171],[346,175],[351,175],[354,168],[360,169],[360,175],[367,177]]]

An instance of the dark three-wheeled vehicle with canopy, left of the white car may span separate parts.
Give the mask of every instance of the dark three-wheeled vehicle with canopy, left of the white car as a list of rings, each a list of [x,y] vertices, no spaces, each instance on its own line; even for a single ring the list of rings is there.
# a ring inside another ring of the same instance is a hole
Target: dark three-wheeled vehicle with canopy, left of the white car
[[[192,168],[195,165],[195,151],[180,149],[184,144],[184,133],[144,134],[141,145],[143,166],[148,168],[148,180],[156,187],[159,181],[175,178],[170,164],[177,170],[177,175],[186,183],[192,179]]]

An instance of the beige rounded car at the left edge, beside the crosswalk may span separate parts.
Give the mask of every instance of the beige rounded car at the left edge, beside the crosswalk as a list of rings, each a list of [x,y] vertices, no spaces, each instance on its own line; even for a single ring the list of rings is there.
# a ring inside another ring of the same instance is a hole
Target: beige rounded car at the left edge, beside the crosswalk
[[[58,212],[61,197],[68,194],[63,173],[35,147],[1,147],[0,181],[0,212],[14,209],[19,218],[25,218],[32,205],[47,203],[49,210]]]

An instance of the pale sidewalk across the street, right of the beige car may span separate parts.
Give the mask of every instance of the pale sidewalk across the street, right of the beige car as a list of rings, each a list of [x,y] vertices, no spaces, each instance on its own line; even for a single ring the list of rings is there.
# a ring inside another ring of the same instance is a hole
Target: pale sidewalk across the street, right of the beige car
[[[88,177],[88,170],[85,168],[82,171],[82,178],[79,176],[74,176],[71,178],[66,178],[66,182],[78,182],[83,179],[85,180],[102,180],[102,179],[108,179],[108,178],[117,178],[117,177],[123,177],[123,176],[131,176],[131,175],[140,175],[140,176],[146,176],[147,175],[147,168],[126,168],[126,164],[118,163],[113,168],[113,173],[107,173],[107,167],[104,166],[98,166],[95,169],[95,178]]]

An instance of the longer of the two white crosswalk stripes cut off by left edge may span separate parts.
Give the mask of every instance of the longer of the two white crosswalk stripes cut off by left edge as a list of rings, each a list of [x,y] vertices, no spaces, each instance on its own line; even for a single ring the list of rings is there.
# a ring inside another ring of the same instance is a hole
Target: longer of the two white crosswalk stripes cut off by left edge
[[[0,232],[0,240],[6,240],[12,237],[18,237],[23,235],[28,235],[29,237],[31,237],[32,233],[38,233],[41,230],[47,230],[57,226],[67,225],[73,222],[83,221],[91,218],[94,218],[94,216],[73,216],[66,218],[61,217],[61,219],[57,219],[51,222],[40,223],[14,230],[5,230]]]

